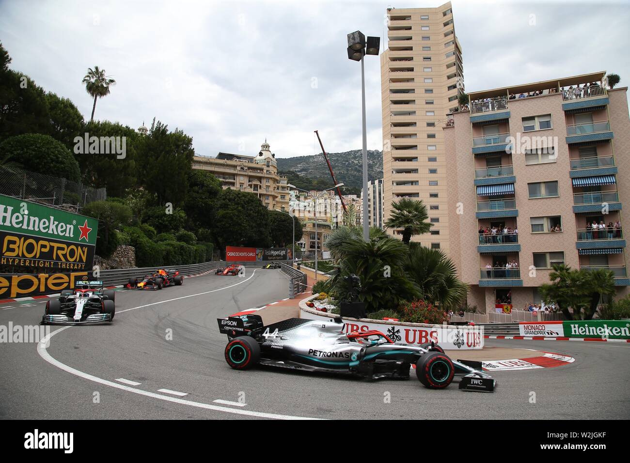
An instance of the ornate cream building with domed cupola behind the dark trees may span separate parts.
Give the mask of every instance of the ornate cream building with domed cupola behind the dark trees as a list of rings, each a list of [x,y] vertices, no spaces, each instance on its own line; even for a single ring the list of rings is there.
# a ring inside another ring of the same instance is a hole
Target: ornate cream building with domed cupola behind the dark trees
[[[266,140],[256,156],[227,152],[216,157],[195,156],[192,168],[210,171],[223,188],[255,194],[267,209],[289,211],[289,181],[278,175],[275,154]]]

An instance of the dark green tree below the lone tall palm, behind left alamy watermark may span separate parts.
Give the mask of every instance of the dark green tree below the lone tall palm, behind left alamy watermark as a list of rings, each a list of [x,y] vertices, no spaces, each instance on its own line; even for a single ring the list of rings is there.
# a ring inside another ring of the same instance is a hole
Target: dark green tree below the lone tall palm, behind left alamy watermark
[[[106,188],[110,196],[124,196],[127,188],[134,186],[137,180],[135,159],[139,145],[144,142],[142,136],[126,125],[107,120],[88,122],[84,130],[89,137],[120,137],[118,147],[121,148],[124,140],[124,157],[119,157],[115,152],[106,154],[100,150],[98,153],[84,152],[76,155],[86,183],[95,188]],[[83,144],[84,135],[79,136],[81,140],[77,139],[77,142]]]

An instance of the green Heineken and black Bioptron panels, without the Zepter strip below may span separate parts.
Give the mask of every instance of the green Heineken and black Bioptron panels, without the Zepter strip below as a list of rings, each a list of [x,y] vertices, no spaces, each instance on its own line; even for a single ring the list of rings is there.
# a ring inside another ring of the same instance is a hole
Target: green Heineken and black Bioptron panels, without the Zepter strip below
[[[92,217],[0,195],[0,273],[91,272],[97,232]]]

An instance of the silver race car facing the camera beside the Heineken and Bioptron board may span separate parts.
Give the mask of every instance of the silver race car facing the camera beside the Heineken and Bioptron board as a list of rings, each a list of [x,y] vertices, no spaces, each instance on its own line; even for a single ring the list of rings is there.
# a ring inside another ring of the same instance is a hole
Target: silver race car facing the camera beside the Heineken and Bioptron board
[[[74,290],[63,290],[58,299],[50,299],[42,324],[88,324],[112,321],[116,293],[104,289],[103,282],[76,282]]]

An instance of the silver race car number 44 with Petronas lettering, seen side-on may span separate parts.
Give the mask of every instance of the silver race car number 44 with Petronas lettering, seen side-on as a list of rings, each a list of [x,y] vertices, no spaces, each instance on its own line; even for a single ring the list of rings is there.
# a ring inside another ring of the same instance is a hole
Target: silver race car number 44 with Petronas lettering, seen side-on
[[[454,375],[462,375],[459,389],[464,391],[493,392],[496,387],[481,362],[451,360],[433,343],[394,344],[380,331],[346,334],[341,317],[290,318],[267,326],[253,314],[217,321],[219,331],[227,334],[226,362],[236,370],[260,363],[370,379],[408,379],[413,364],[418,380],[431,389],[449,386]]]

